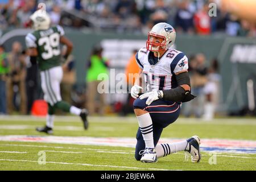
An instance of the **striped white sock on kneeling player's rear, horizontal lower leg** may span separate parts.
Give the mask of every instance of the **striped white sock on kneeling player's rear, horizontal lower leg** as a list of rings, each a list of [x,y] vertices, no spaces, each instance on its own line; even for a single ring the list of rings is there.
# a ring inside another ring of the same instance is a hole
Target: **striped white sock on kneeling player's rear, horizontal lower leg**
[[[187,140],[184,140],[183,142],[176,142],[176,143],[163,143],[158,144],[155,147],[156,154],[158,155],[158,158],[170,155],[175,152],[184,151],[187,147]]]

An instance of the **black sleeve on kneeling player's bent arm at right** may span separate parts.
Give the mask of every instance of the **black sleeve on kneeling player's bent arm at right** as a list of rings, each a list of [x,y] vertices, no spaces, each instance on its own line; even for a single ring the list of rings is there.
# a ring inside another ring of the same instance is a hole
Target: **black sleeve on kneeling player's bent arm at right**
[[[188,102],[191,101],[196,96],[193,96],[189,90],[184,90],[180,85],[191,85],[188,72],[183,72],[176,75],[177,86],[174,89],[163,90],[163,99],[167,101],[175,102]]]

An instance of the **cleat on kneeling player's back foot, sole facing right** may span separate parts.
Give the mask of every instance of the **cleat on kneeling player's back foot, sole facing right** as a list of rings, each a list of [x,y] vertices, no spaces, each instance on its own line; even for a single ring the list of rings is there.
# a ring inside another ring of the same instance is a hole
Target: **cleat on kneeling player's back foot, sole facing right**
[[[187,146],[185,151],[191,154],[191,162],[199,163],[201,160],[201,153],[200,153],[200,138],[197,136],[193,136],[187,139]]]

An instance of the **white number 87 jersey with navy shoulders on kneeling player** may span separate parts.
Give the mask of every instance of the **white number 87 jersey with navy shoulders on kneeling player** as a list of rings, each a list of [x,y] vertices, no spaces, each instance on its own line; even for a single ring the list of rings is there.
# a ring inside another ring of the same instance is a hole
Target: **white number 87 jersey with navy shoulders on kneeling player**
[[[146,92],[176,88],[175,73],[188,69],[188,57],[181,51],[169,48],[155,65],[151,65],[149,53],[146,48],[141,48],[135,56],[137,64],[143,69]]]

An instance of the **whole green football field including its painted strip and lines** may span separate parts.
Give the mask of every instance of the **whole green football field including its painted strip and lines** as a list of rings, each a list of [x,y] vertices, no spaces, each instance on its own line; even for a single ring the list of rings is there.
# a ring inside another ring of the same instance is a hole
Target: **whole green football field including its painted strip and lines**
[[[191,163],[185,152],[177,152],[154,164],[134,158],[135,117],[90,117],[86,131],[77,117],[56,117],[55,121],[54,134],[49,136],[35,131],[36,126],[45,124],[44,118],[0,118],[0,170],[256,169],[254,118],[211,122],[179,118],[164,129],[162,138],[171,141],[199,135],[204,146],[201,162]],[[229,148],[223,148],[225,145]]]

